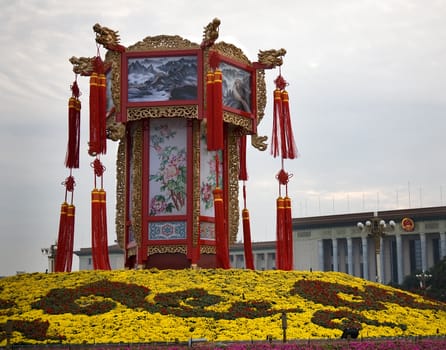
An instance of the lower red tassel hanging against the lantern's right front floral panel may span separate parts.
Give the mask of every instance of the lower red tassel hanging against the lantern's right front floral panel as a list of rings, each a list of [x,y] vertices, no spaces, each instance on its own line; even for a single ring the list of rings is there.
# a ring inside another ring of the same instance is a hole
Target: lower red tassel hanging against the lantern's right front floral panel
[[[225,230],[223,190],[219,187],[215,188],[214,194],[214,210],[215,210],[215,249],[217,257],[217,267],[229,269],[229,239]]]

